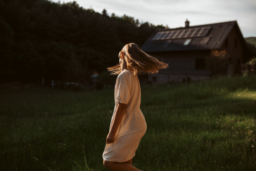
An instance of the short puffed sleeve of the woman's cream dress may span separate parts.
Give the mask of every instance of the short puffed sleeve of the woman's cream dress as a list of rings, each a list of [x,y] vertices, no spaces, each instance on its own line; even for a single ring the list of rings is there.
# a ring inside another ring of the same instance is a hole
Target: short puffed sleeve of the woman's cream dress
[[[117,77],[116,82],[116,102],[127,104],[131,94],[131,73],[122,72]]]

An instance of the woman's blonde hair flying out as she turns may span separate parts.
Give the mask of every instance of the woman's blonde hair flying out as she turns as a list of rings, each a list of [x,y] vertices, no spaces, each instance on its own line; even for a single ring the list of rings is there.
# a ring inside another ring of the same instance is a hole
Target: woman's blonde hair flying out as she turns
[[[135,43],[126,44],[119,52],[118,57],[123,57],[122,59],[126,61],[128,70],[134,72],[134,75],[157,73],[158,70],[168,68],[168,64],[143,52],[141,47]],[[120,64],[107,69],[112,72],[112,75],[117,75],[122,72]]]

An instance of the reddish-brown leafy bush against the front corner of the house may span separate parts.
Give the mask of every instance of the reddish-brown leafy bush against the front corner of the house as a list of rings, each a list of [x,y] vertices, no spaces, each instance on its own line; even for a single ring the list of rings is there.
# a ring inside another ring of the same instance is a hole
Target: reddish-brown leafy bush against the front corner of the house
[[[205,59],[205,68],[211,72],[211,76],[226,75],[229,64],[229,55],[225,50],[220,52],[212,50],[211,54]]]

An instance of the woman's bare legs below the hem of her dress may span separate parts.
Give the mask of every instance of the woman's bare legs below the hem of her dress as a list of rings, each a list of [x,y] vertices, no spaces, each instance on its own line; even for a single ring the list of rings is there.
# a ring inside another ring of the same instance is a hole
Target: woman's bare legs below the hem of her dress
[[[108,162],[103,160],[103,165],[105,168],[111,171],[140,171],[130,163],[132,163],[132,159],[128,160],[127,162]]]

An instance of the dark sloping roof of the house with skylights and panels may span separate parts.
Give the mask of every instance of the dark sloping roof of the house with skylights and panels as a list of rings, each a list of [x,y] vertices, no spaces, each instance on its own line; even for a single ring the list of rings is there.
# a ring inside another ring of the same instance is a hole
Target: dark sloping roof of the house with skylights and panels
[[[246,45],[237,22],[229,21],[176,29],[158,29],[143,44],[142,49],[144,52],[219,49],[233,27],[239,39],[242,39],[242,45]],[[170,36],[172,33],[176,35]],[[184,45],[185,42],[188,44]]]

